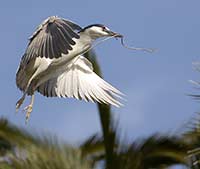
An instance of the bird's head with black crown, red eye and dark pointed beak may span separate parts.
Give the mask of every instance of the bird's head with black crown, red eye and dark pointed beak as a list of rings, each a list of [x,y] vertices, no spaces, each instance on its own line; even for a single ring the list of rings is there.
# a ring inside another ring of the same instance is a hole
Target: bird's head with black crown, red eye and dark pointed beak
[[[81,32],[88,34],[92,39],[109,36],[122,37],[122,35],[111,31],[109,28],[101,24],[93,24],[86,26],[81,30]]]

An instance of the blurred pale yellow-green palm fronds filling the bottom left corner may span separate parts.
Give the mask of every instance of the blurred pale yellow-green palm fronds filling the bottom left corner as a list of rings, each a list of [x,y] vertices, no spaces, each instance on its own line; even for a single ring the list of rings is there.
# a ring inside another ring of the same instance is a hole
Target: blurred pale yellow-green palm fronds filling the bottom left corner
[[[2,169],[91,169],[80,149],[55,138],[33,136],[0,120],[0,168]]]

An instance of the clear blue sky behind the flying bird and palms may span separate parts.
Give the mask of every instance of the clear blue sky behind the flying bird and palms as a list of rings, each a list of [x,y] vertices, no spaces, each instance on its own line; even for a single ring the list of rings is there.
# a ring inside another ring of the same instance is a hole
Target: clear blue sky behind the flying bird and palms
[[[200,57],[199,6],[198,0],[2,1],[0,115],[72,144],[100,131],[96,105],[75,99],[37,94],[28,125],[25,114],[15,114],[21,97],[15,72],[28,37],[46,17],[58,15],[83,27],[105,24],[123,34],[130,45],[158,49],[153,54],[130,51],[115,39],[95,48],[104,78],[126,94],[125,106],[113,108],[125,138],[180,129],[199,111],[198,103],[186,96],[198,92],[188,80],[200,75],[192,68]]]

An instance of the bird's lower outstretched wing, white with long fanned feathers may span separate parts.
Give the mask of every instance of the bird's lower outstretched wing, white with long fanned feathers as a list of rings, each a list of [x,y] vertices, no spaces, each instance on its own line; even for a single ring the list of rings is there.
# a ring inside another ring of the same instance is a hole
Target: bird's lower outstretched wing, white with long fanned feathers
[[[58,77],[38,87],[47,97],[74,97],[85,101],[97,101],[119,107],[121,103],[113,96],[122,93],[93,72],[92,64],[83,56],[73,59]]]

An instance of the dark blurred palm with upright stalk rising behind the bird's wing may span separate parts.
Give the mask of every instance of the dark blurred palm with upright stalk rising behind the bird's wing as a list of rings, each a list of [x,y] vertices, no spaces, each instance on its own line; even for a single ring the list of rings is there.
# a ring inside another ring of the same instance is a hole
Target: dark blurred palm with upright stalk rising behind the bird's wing
[[[94,51],[87,57],[94,65],[94,71],[102,77],[100,66]],[[99,104],[98,112],[102,127],[102,137],[93,135],[82,144],[84,155],[89,155],[94,161],[105,160],[106,169],[121,168],[163,168],[175,164],[187,165],[185,160],[188,145],[178,137],[154,135],[147,139],[133,141],[127,145],[120,143],[117,127],[113,122],[111,107]]]

